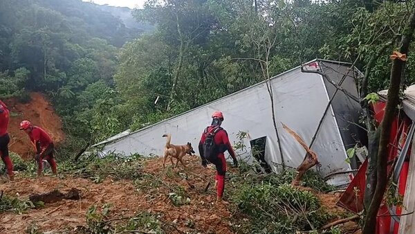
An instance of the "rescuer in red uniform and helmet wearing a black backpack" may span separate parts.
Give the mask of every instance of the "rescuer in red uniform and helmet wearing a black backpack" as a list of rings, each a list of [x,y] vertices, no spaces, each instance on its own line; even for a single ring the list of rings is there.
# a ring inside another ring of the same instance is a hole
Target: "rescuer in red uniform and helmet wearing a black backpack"
[[[221,111],[214,111],[212,114],[212,125],[206,127],[203,131],[201,141],[199,142],[199,154],[201,155],[203,167],[207,166],[208,160],[205,158],[203,143],[205,143],[206,137],[209,133],[214,132],[214,144],[218,148],[215,150],[216,156],[209,161],[216,166],[216,177],[215,177],[215,186],[216,186],[216,201],[221,202],[223,197],[223,190],[225,188],[225,174],[226,174],[226,159],[224,152],[228,150],[230,156],[232,156],[234,166],[238,166],[237,157],[235,152],[232,149],[230,144],[228,133],[221,127],[223,121],[223,114]]]

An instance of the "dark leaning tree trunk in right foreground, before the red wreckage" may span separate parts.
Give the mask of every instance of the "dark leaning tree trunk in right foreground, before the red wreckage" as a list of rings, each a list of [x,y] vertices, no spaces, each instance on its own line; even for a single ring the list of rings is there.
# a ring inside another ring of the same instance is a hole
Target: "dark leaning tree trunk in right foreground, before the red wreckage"
[[[409,44],[412,40],[412,35],[415,29],[415,10],[411,12],[411,15],[405,26],[403,37],[400,42],[400,53],[407,55],[409,51]],[[396,58],[392,62],[391,78],[389,84],[389,90],[387,92],[387,104],[385,107],[385,116],[380,130],[380,143],[378,150],[378,167],[377,167],[377,183],[374,197],[367,210],[367,216],[365,218],[365,224],[363,226],[362,233],[372,234],[376,231],[376,216],[378,214],[380,203],[382,202],[383,195],[385,194],[387,186],[387,148],[389,143],[389,137],[391,134],[391,124],[394,120],[396,107],[399,103],[399,89],[402,71],[405,66],[405,61]]]

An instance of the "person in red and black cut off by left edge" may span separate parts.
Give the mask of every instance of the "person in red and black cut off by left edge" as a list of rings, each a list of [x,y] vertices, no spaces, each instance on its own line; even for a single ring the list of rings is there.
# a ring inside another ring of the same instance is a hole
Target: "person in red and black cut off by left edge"
[[[8,154],[8,143],[10,142],[10,136],[8,134],[8,123],[10,118],[10,111],[6,104],[0,100],[0,156],[4,165],[6,165],[6,171],[10,181],[13,180],[13,163],[10,160]]]

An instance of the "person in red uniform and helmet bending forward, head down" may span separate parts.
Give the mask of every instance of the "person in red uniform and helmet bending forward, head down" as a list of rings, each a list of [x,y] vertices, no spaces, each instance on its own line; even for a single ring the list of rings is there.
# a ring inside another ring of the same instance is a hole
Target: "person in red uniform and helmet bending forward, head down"
[[[53,150],[55,147],[53,145],[52,138],[50,138],[48,133],[46,133],[45,130],[40,127],[33,126],[32,123],[30,123],[28,120],[24,120],[20,123],[20,129],[24,130],[24,132],[28,134],[30,141],[35,146],[37,176],[40,177],[42,175],[43,159],[48,161],[53,174],[57,174],[56,161],[53,156]]]

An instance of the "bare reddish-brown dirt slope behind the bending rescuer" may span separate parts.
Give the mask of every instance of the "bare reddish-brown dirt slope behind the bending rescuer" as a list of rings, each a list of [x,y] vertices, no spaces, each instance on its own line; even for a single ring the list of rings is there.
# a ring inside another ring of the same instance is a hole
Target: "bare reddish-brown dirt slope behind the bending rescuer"
[[[62,120],[55,114],[53,107],[44,95],[30,93],[30,98],[32,100],[27,104],[21,104],[15,99],[5,101],[12,112],[9,123],[10,151],[16,152],[26,159],[32,156],[33,145],[26,133],[19,130],[19,124],[22,120],[30,120],[34,125],[44,128],[55,143],[62,142],[65,138],[62,131]]]

